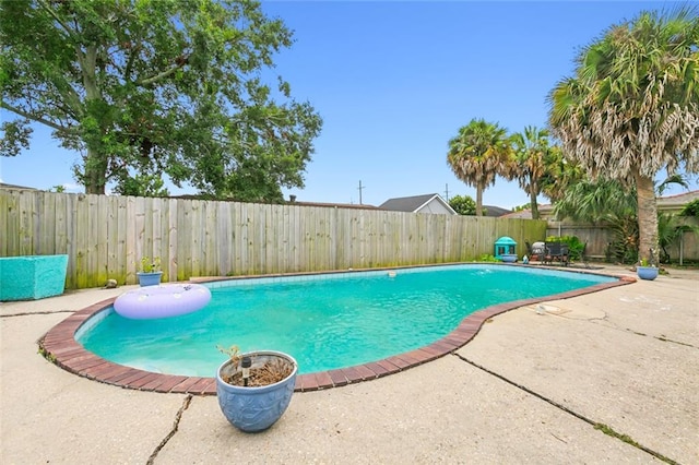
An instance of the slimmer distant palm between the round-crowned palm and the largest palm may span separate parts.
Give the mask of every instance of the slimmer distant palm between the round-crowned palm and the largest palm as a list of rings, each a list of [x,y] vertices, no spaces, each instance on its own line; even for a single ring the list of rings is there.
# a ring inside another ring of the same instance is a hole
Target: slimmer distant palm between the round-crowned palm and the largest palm
[[[512,134],[512,145],[514,157],[510,165],[510,177],[517,178],[520,188],[529,194],[532,219],[538,219],[536,198],[542,193],[542,180],[553,162],[548,130],[528,126],[524,132]]]

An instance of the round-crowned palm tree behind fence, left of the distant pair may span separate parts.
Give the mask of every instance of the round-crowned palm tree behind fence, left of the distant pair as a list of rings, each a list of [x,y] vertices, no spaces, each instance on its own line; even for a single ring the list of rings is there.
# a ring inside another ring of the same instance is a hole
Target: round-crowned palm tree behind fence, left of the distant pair
[[[476,188],[476,216],[483,216],[483,191],[505,172],[510,154],[507,130],[483,119],[472,119],[449,141],[447,163],[459,179]]]

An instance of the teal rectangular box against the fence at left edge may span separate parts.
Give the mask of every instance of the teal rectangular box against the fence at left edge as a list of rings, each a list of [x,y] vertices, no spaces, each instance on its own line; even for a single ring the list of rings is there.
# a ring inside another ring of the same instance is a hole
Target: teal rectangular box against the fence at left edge
[[[0,300],[36,300],[66,288],[68,255],[0,258]]]

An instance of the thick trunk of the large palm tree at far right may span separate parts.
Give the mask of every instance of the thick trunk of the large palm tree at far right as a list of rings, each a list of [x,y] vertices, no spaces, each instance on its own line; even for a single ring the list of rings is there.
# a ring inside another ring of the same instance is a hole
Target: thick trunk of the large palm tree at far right
[[[638,258],[659,264],[657,250],[657,206],[655,205],[655,186],[653,178],[648,178],[633,170],[636,192],[638,195]]]

